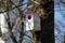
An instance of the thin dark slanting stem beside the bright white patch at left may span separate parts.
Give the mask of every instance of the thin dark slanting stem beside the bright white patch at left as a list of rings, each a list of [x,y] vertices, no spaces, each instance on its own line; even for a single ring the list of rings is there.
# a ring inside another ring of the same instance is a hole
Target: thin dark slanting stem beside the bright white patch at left
[[[9,3],[10,3],[10,0],[6,0],[6,5],[5,5],[6,10],[9,10],[9,8],[10,8]],[[9,29],[10,29],[10,37],[11,37],[11,39],[12,39],[12,41],[13,41],[14,43],[17,43],[17,42],[16,42],[16,39],[15,39],[13,32],[12,32],[12,27],[11,27],[11,25],[10,25],[9,11],[8,11],[6,14],[8,14],[8,17],[9,17],[9,18],[8,18],[8,25],[9,25]]]

